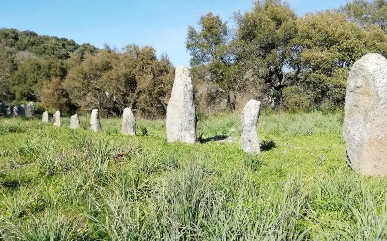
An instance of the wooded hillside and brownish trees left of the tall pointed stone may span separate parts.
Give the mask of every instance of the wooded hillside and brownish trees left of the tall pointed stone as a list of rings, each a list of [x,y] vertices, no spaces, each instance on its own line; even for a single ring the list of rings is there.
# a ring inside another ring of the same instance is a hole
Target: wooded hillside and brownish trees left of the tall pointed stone
[[[174,73],[148,46],[98,49],[15,29],[0,29],[0,66],[0,100],[41,101],[68,113],[99,108],[104,115],[130,106],[145,117],[165,114]]]

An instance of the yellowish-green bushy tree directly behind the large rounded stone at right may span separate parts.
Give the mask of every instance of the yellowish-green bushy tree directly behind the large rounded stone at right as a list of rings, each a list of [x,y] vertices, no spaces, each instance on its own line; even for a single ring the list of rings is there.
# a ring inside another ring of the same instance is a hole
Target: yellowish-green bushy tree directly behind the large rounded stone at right
[[[299,19],[294,46],[299,74],[288,83],[285,107],[335,108],[344,103],[349,67],[369,52],[386,56],[387,36],[375,26],[362,29],[343,14],[327,11]]]

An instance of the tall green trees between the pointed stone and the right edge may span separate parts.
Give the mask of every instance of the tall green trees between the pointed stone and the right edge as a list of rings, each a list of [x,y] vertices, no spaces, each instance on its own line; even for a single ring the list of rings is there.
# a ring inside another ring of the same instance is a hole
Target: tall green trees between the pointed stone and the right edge
[[[273,108],[336,109],[349,68],[361,56],[387,56],[387,1],[355,0],[298,17],[281,0],[256,1],[234,27],[208,13],[188,27],[202,111],[240,108],[255,98]]]

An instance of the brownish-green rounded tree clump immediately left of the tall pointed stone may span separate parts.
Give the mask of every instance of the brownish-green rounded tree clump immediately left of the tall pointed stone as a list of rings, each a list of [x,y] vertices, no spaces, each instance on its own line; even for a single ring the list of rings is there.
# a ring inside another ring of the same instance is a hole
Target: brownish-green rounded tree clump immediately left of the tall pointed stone
[[[166,57],[157,59],[153,48],[127,46],[124,53],[105,49],[72,56],[64,87],[71,101],[89,110],[99,108],[107,115],[132,107],[143,115],[165,114],[164,98],[173,68]]]

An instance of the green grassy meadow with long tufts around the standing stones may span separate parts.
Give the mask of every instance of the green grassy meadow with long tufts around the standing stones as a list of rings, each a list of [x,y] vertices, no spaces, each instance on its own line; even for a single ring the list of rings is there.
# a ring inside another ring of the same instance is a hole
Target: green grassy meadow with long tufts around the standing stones
[[[247,155],[239,114],[200,117],[194,145],[0,118],[0,240],[386,240],[387,179],[346,167],[342,122],[263,112]]]

